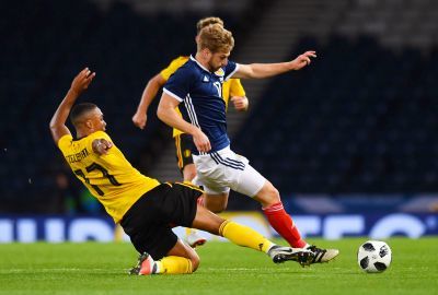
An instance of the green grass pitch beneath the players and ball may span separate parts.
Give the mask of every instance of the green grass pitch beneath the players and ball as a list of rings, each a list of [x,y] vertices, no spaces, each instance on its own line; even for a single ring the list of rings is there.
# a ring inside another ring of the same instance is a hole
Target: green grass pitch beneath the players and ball
[[[438,294],[438,238],[392,238],[392,264],[379,274],[357,266],[367,238],[310,241],[336,247],[331,263],[274,264],[267,256],[230,243],[198,248],[192,275],[129,276],[137,260],[130,244],[0,245],[0,294]]]

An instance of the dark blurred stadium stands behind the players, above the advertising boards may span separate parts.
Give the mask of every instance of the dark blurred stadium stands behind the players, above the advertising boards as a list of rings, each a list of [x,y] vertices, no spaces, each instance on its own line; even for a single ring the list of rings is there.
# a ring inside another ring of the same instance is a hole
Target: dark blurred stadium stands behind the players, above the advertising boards
[[[80,101],[100,105],[127,158],[160,180],[181,179],[159,99],[146,130],[131,116],[147,81],[196,50],[195,24],[210,15],[233,32],[238,62],[318,51],[300,72],[243,81],[250,111],[229,114],[232,149],[285,202],[418,197],[423,211],[438,208],[437,1],[41,0],[1,1],[0,11],[0,213],[101,212],[48,129],[85,66],[97,76]]]

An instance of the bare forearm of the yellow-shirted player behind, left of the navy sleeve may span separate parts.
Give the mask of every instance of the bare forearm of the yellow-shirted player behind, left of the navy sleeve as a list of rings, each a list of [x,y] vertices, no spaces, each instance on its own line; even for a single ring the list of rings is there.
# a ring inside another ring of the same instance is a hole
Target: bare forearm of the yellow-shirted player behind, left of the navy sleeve
[[[136,114],[132,116],[132,122],[140,129],[143,129],[146,121],[148,120],[148,108],[152,103],[153,98],[157,96],[159,90],[165,84],[164,78],[161,73],[155,74],[152,79],[148,81],[145,91],[141,95],[140,103],[137,107]]]

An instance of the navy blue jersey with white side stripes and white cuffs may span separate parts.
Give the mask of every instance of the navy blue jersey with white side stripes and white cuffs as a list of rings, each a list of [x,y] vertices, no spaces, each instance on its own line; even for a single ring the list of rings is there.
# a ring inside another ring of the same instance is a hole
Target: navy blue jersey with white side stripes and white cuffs
[[[200,128],[208,137],[210,152],[230,145],[222,82],[237,70],[238,63],[228,61],[226,67],[212,73],[191,56],[191,59],[171,75],[163,88],[166,94],[182,102],[178,108],[183,119]],[[196,146],[192,152],[198,154]]]

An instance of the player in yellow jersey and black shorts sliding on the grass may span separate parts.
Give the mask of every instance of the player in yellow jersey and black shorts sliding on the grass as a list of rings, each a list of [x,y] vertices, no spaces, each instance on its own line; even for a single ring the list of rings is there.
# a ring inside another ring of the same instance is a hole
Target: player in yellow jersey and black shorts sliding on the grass
[[[254,229],[197,204],[204,194],[199,188],[184,182],[160,184],[134,168],[105,132],[102,110],[90,103],[73,106],[94,76],[85,68],[74,78],[50,120],[50,131],[74,175],[122,225],[140,252],[131,274],[192,273],[198,268],[198,255],[176,237],[172,225],[223,236],[239,246],[266,252],[276,263],[311,263],[311,251],[275,245]],[[76,139],[66,126],[69,116]]]

